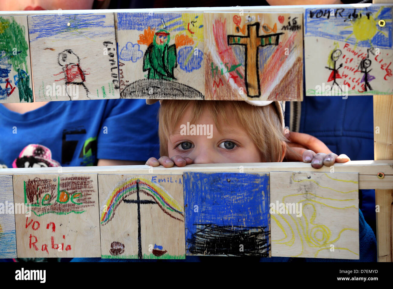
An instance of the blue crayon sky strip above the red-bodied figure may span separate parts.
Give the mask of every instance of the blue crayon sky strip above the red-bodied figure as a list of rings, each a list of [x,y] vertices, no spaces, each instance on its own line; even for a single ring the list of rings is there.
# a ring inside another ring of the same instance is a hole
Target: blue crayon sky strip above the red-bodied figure
[[[30,41],[33,42],[39,38],[47,38],[61,33],[67,33],[67,40],[79,37],[94,39],[114,35],[114,25],[106,25],[106,17],[107,15],[97,14],[30,16]],[[67,25],[68,22],[70,26]]]

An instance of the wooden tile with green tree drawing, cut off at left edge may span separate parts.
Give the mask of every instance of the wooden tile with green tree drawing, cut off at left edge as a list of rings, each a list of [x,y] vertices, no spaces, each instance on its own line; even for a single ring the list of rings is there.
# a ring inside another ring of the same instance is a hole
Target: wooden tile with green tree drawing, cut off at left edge
[[[0,17],[0,103],[33,102],[26,16]]]

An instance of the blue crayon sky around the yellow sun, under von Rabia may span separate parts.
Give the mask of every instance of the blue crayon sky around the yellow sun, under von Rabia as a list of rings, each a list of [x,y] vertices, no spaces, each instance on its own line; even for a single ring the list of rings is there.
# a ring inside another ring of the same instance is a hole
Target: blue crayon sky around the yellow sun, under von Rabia
[[[348,19],[348,15],[354,12],[356,9],[356,13],[362,13],[362,17],[367,17],[366,13],[371,12],[371,17],[375,19],[378,11],[381,6],[370,6],[365,8],[353,7],[353,8],[345,8],[345,10],[341,13],[343,17],[339,15],[337,17],[330,16],[329,19],[327,17],[314,17],[310,18],[310,11],[312,13],[320,10],[320,9],[306,9],[305,12],[305,37],[314,36],[314,37],[324,37],[332,40],[340,40],[345,41],[350,44],[356,44],[356,38],[352,35],[349,39],[345,40],[351,33],[351,21],[344,21]],[[327,9],[329,10],[329,9]],[[323,10],[324,11],[324,10]],[[393,48],[392,41],[392,7],[386,6],[382,9],[380,14],[375,20],[384,19],[386,21],[386,25],[384,27],[378,26],[376,27],[378,30],[383,31],[387,36],[383,33],[378,32],[375,34],[373,39],[371,39],[371,43],[379,48]],[[345,28],[345,29],[344,29]],[[357,46],[360,47],[370,47],[370,42],[368,40],[357,42]]]

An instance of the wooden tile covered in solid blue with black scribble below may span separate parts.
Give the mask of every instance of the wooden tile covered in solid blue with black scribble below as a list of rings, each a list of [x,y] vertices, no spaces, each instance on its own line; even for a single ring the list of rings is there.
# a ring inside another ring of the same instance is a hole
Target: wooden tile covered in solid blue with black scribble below
[[[270,257],[267,173],[183,177],[187,255]]]

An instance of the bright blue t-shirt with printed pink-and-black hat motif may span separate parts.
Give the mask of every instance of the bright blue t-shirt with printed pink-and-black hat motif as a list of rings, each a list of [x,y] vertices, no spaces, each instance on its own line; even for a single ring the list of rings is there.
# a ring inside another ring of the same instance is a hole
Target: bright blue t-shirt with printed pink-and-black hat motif
[[[0,105],[0,167],[95,166],[159,156],[159,103],[52,101],[20,114]]]

